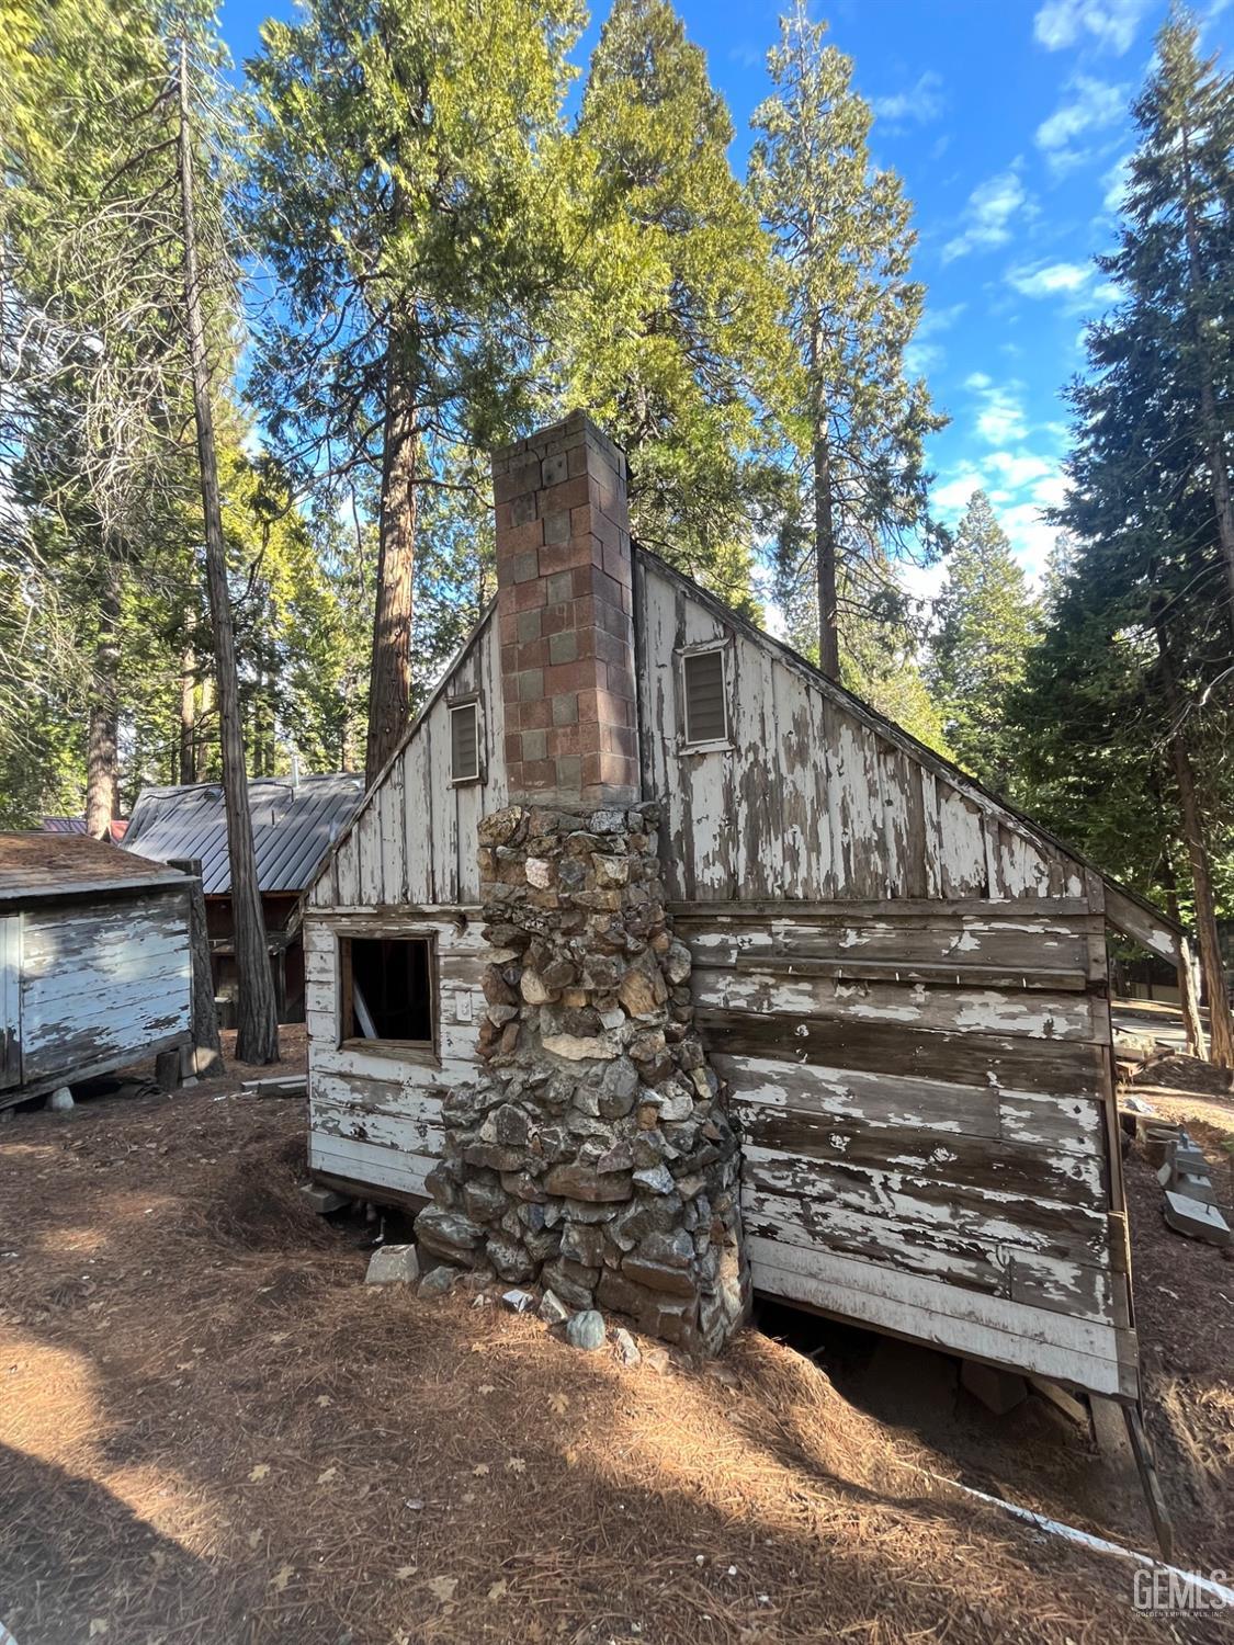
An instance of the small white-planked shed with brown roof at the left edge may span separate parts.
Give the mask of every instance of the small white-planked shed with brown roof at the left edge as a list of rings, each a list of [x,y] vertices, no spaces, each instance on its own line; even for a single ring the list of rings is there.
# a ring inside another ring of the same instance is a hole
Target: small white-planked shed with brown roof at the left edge
[[[189,885],[84,834],[0,834],[0,1107],[189,1045]]]

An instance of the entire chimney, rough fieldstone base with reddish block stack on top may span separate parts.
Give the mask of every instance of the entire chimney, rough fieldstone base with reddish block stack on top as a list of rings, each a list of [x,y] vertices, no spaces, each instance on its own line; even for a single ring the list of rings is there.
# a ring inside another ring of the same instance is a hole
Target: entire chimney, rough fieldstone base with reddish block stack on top
[[[625,459],[573,416],[494,475],[512,803],[479,826],[485,1074],[443,1104],[416,1239],[714,1352],[749,1304],[737,1140],[638,798]]]

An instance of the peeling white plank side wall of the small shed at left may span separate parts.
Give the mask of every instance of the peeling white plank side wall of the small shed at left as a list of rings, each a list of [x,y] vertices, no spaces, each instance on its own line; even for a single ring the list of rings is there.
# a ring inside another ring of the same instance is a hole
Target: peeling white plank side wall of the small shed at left
[[[21,915],[21,1084],[189,1031],[188,895],[61,898]]]

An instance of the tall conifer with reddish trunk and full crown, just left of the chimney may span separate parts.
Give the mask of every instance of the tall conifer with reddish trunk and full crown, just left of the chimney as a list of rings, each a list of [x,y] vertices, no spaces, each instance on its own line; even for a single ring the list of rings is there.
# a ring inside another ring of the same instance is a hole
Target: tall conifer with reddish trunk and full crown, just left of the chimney
[[[492,446],[527,403],[578,23],[576,0],[309,0],[248,64],[250,222],[278,298],[253,393],[306,485],[378,485],[369,780],[408,717],[438,446]]]

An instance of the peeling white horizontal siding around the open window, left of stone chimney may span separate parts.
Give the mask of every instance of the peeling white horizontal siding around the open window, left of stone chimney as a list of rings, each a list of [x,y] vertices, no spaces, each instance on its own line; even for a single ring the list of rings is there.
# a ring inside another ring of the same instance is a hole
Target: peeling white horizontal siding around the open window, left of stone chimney
[[[436,939],[439,1058],[339,1043],[339,938]],[[479,910],[309,911],[304,921],[304,1020],[309,1054],[309,1168],[380,1193],[424,1198],[441,1155],[441,1102],[476,1079],[485,1000]]]

